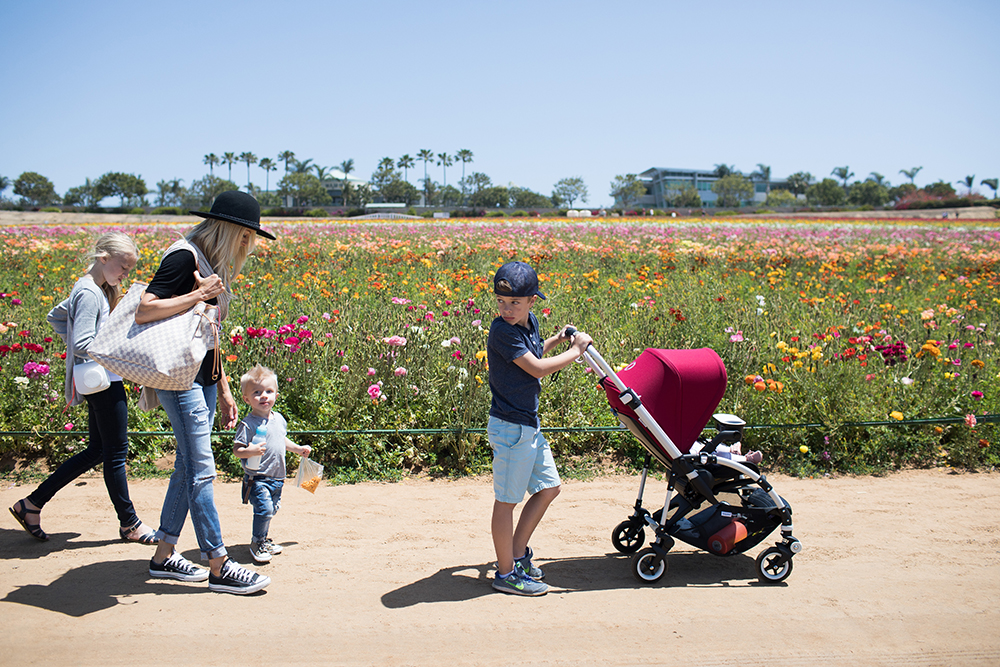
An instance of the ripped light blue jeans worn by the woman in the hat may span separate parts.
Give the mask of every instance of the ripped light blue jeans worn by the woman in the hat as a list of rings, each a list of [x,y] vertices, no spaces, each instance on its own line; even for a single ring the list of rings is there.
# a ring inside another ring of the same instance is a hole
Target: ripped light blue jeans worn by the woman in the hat
[[[187,391],[157,389],[170,426],[177,439],[177,459],[170,476],[167,495],[160,512],[157,537],[177,544],[187,515],[198,539],[201,557],[226,555],[222,544],[219,513],[215,509],[215,457],[212,454],[212,424],[215,422],[216,385],[202,387],[195,383]]]

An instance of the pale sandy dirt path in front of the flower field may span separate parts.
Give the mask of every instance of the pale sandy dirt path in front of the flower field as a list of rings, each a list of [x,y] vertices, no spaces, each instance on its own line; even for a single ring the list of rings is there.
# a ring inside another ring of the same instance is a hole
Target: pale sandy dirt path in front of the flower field
[[[567,482],[533,540],[551,592],[494,593],[489,479],[413,479],[286,486],[285,551],[258,566],[273,582],[239,597],[149,579],[152,547],[116,540],[102,480],[81,478],[46,507],[49,542],[0,519],[0,664],[1000,664],[1000,473],[771,481],[805,547],[779,585],[754,575],[773,540],[732,558],[679,544],[638,584],[609,539],[637,478],[605,477]],[[155,523],[166,482],[131,489]],[[250,562],[239,486],[215,492]],[[190,524],[181,549],[198,558]]]

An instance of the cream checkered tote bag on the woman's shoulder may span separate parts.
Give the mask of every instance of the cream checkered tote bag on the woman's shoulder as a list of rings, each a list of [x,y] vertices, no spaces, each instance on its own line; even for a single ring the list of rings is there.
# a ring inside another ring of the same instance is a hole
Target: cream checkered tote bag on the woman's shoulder
[[[135,282],[87,348],[90,358],[112,373],[153,389],[186,391],[205,354],[219,354],[219,309],[198,302],[164,320],[136,324],[135,311],[146,284]]]

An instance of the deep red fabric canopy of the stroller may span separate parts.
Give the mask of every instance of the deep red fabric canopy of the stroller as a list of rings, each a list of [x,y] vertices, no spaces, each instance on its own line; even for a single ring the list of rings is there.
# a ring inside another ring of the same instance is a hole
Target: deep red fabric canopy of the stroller
[[[726,391],[726,367],[715,350],[709,348],[647,348],[617,375],[639,395],[643,406],[682,454],[701,435]],[[603,385],[611,407],[638,420],[635,412],[618,398],[614,383],[605,378]],[[652,435],[650,440],[657,442]]]

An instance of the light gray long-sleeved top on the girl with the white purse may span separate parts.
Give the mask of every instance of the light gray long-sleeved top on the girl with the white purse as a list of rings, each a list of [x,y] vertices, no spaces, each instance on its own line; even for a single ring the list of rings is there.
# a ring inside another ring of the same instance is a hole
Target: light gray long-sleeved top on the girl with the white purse
[[[84,401],[84,397],[74,391],[73,366],[90,361],[87,348],[110,313],[104,292],[90,274],[86,274],[73,285],[69,298],[50,310],[45,318],[66,343],[64,392],[67,405],[79,405]],[[112,381],[121,379],[113,373],[108,376]]]

